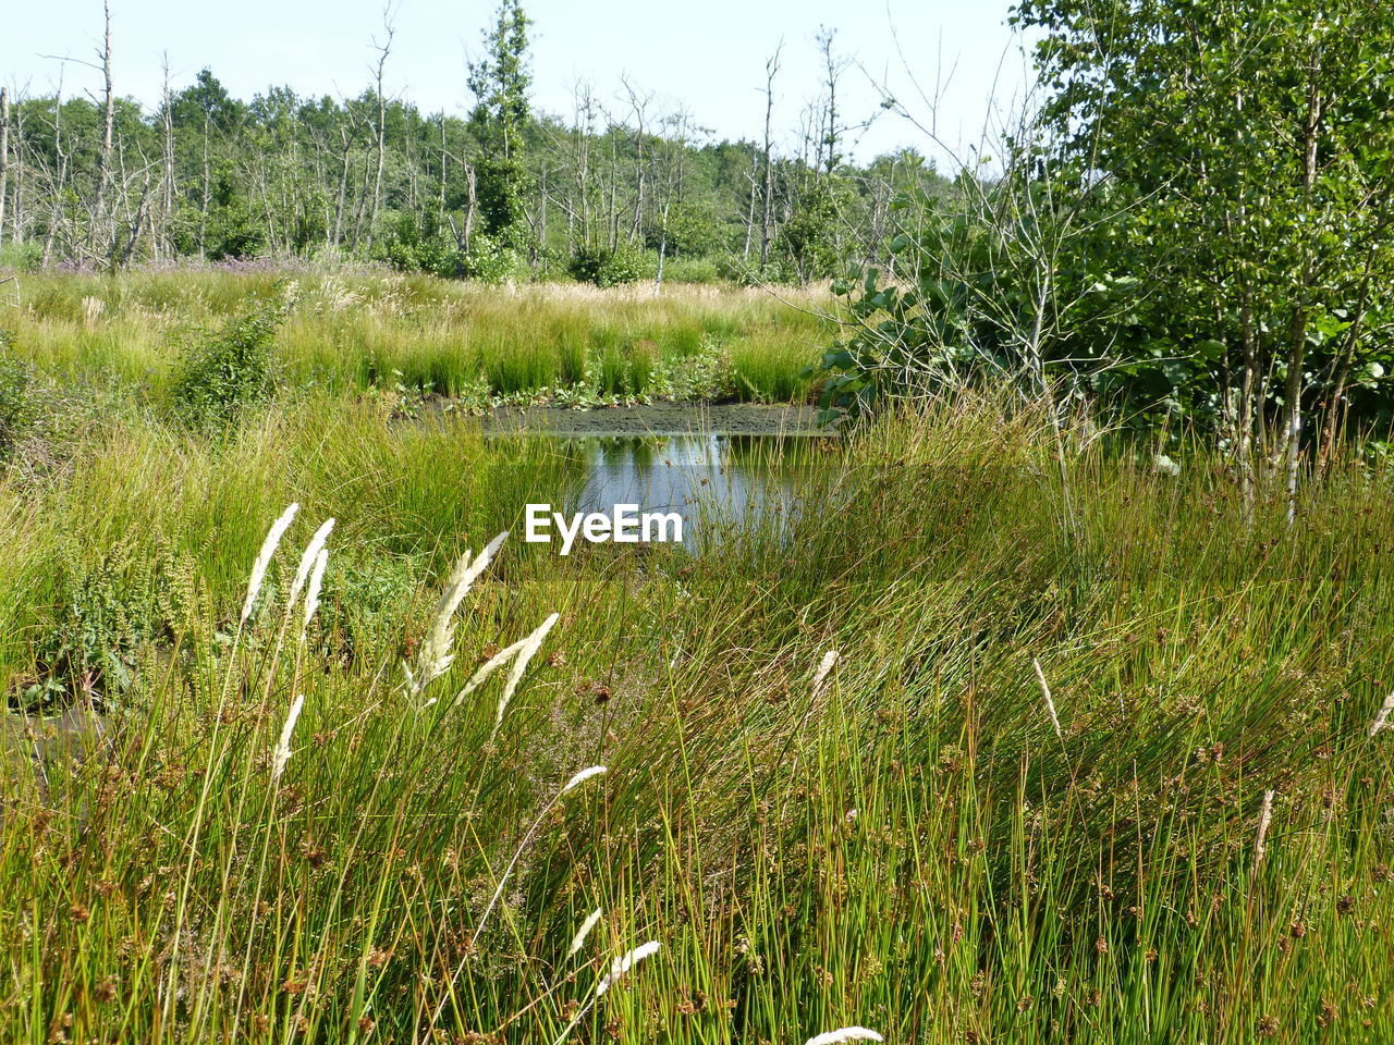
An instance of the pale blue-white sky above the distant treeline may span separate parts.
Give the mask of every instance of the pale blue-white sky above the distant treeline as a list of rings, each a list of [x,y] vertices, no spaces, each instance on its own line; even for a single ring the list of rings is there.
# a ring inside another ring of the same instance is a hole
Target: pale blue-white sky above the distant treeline
[[[21,0],[0,0],[0,8]],[[480,50],[496,0],[396,0],[386,91],[425,111],[463,114],[470,95],[464,63]],[[960,157],[984,124],[1020,104],[1029,61],[1006,26],[1009,0],[524,0],[533,26],[533,102],[570,116],[574,86],[623,111],[622,78],[652,93],[651,111],[684,106],[712,139],[758,139],[764,130],[764,70],[783,42],[775,82],[775,137],[797,139],[800,113],[820,92],[820,26],[836,31],[852,64],[839,86],[860,160],[899,146]],[[382,0],[112,0],[117,93],[153,106],[163,56],[174,89],[204,67],[243,99],[269,85],[309,95],[357,95],[371,82],[374,39],[382,40]],[[96,93],[100,72],[53,56],[98,61],[100,0],[22,4],[3,18],[0,82],[17,95]],[[882,88],[920,127],[880,106]],[[873,118],[874,117],[874,118]],[[849,142],[850,145],[850,142]],[[941,146],[941,148],[942,148]]]

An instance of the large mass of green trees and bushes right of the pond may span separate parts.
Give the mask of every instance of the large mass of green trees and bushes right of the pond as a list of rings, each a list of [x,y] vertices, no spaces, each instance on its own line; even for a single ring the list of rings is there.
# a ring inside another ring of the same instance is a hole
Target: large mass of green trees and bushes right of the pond
[[[1041,121],[993,180],[901,184],[894,268],[839,284],[828,405],[1006,385],[1281,446],[1289,471],[1347,418],[1386,425],[1394,22],[1358,0],[1018,20],[1041,33]]]

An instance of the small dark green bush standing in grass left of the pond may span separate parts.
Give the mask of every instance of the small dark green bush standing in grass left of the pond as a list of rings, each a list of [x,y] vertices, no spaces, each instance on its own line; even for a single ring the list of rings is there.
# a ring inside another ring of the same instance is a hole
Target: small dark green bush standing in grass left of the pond
[[[276,389],[276,330],[286,318],[280,302],[265,302],[217,330],[199,330],[171,389],[174,410],[202,429],[229,428]]]

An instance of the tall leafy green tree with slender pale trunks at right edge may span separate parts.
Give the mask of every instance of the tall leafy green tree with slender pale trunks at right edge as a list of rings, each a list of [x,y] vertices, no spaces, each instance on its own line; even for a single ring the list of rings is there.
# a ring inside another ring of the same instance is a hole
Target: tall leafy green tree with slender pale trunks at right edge
[[[1019,18],[1044,31],[1052,155],[1133,201],[1096,245],[1161,276],[1133,337],[1167,346],[1245,468],[1253,447],[1281,463],[1292,510],[1306,414],[1328,447],[1351,375],[1388,359],[1394,20],[1363,0]]]

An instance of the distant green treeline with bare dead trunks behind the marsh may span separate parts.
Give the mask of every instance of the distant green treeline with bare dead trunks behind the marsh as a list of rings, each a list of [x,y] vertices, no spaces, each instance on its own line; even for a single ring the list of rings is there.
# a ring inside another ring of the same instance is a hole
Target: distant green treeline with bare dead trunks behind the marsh
[[[940,183],[910,150],[848,162],[848,63],[831,32],[799,145],[782,152],[778,53],[763,71],[764,139],[715,142],[630,82],[611,99],[579,86],[566,118],[535,113],[530,28],[503,0],[461,78],[466,117],[392,95],[390,15],[355,98],[270,88],[245,102],[204,70],[146,110],[117,91],[109,7],[103,93],[0,95],[0,261],[328,255],[477,279],[612,283],[666,265],[802,281],[885,259],[896,194]]]

